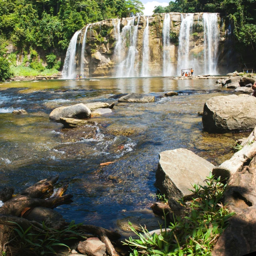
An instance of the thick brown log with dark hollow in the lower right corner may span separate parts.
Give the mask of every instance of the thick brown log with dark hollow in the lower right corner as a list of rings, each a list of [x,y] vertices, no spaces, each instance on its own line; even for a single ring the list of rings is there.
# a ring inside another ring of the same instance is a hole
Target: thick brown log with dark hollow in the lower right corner
[[[224,192],[224,203],[236,215],[229,219],[229,226],[214,246],[212,256],[242,256],[255,252],[256,156],[249,165],[231,173]]]

